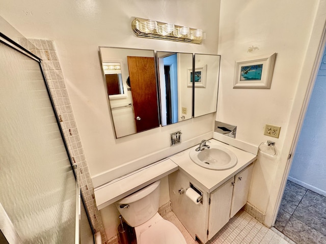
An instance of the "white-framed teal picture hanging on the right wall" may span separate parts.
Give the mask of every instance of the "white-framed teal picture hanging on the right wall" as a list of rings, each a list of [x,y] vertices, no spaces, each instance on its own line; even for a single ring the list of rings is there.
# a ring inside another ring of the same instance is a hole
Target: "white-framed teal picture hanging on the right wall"
[[[270,89],[276,53],[235,61],[233,88]]]

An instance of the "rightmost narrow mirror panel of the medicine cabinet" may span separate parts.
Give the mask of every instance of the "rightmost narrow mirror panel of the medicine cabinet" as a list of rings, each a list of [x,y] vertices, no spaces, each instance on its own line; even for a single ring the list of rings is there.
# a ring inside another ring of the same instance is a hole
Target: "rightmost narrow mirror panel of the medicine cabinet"
[[[195,54],[194,117],[216,112],[220,61],[220,55]]]

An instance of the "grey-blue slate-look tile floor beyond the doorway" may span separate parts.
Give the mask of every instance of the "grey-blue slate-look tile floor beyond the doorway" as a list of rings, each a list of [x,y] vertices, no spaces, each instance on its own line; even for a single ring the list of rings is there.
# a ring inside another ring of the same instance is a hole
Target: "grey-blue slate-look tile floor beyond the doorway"
[[[326,197],[288,180],[274,227],[297,244],[326,244]]]

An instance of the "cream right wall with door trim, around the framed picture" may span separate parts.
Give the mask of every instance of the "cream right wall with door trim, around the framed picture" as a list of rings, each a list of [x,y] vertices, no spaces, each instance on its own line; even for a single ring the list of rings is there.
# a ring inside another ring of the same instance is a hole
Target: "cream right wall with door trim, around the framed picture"
[[[307,50],[316,26],[318,3],[317,0],[221,2],[222,58],[216,120],[236,125],[239,140],[257,146],[266,140],[276,142],[277,160],[258,158],[249,195],[249,202],[266,214],[266,225],[272,224],[277,211],[287,157],[323,30],[323,26],[317,26],[317,45],[310,56]],[[233,89],[235,60],[274,52],[277,58],[270,89]],[[264,136],[265,124],[281,126],[280,137]]]

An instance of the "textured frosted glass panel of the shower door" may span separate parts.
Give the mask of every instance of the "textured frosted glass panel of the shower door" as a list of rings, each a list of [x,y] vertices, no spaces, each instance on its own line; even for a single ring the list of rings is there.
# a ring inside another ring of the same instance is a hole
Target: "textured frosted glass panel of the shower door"
[[[76,181],[39,63],[0,43],[0,201],[23,243],[74,243]]]

